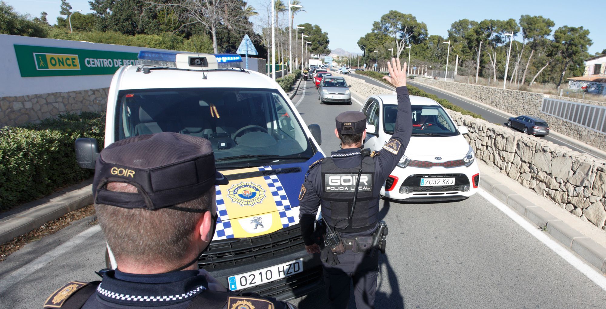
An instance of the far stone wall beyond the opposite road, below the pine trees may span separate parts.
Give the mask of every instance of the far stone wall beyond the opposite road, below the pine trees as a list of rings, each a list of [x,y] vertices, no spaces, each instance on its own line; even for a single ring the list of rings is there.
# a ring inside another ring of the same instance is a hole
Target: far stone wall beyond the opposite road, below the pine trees
[[[437,81],[435,79],[416,78],[415,82],[432,85],[457,95],[482,102],[498,110],[513,115],[529,115],[545,119],[551,130],[570,136],[585,144],[606,150],[606,135],[597,131],[581,127],[568,121],[541,113],[543,98],[562,99],[567,101],[582,102],[593,105],[606,105],[606,102],[588,101],[582,99],[567,98],[562,96],[544,95],[528,91],[518,91],[487,87],[481,85],[464,84],[461,82]]]

